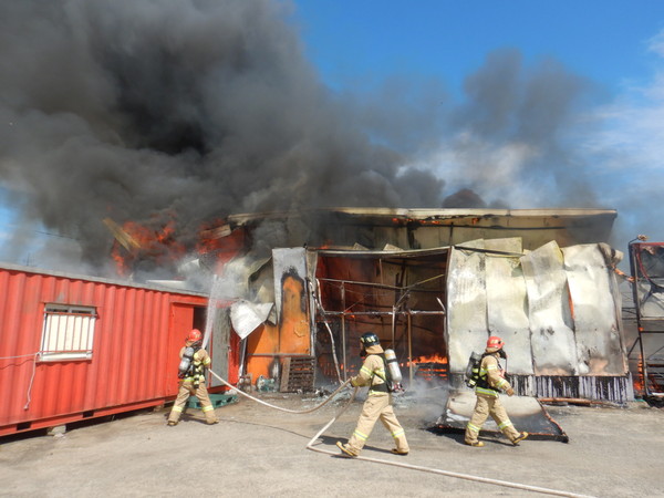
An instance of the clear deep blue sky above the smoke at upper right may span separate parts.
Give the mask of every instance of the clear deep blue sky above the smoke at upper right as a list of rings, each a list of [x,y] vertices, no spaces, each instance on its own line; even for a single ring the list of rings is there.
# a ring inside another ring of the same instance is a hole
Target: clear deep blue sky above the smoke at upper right
[[[307,53],[323,80],[435,75],[458,91],[487,53],[554,56],[609,92],[652,77],[650,40],[664,28],[657,1],[297,0]],[[406,7],[407,6],[407,7]]]

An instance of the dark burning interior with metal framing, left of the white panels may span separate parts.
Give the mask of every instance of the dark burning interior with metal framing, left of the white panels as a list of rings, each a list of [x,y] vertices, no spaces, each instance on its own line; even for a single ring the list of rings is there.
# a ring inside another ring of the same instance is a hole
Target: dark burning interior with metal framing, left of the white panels
[[[360,335],[372,331],[395,351],[409,384],[416,377],[446,378],[442,331],[448,252],[318,251],[312,302],[322,373],[343,381],[355,375],[361,366]]]

